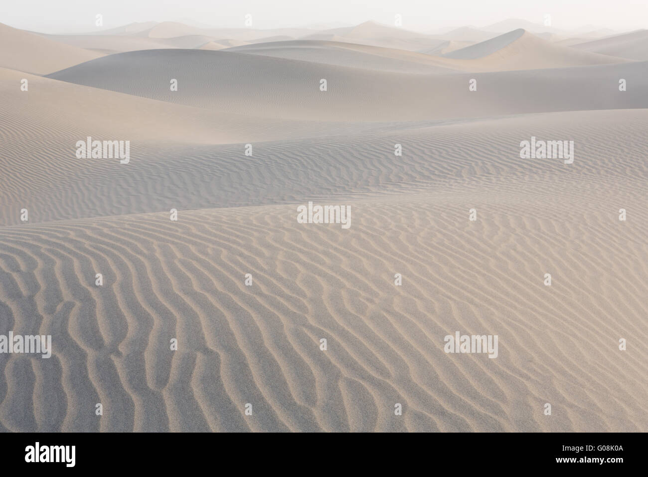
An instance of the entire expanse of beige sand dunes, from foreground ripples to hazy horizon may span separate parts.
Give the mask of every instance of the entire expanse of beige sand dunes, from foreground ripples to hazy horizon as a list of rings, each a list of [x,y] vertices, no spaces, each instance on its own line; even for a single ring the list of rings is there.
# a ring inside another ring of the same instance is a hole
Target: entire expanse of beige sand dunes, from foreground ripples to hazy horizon
[[[645,35],[104,33],[0,25],[0,430],[648,431]]]

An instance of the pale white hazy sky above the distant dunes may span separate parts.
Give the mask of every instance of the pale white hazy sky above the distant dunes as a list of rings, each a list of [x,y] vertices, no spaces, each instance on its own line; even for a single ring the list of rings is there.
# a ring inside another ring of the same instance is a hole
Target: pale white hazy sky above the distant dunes
[[[133,21],[192,19],[213,27],[344,26],[375,20],[405,29],[482,27],[507,18],[542,23],[550,14],[556,28],[595,25],[612,29],[648,28],[648,0],[0,0],[0,23],[42,32],[95,31]]]

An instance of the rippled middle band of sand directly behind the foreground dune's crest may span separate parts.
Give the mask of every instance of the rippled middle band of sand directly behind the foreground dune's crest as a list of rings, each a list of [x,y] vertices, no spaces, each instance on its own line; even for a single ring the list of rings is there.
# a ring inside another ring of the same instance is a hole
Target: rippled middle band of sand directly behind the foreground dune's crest
[[[76,89],[73,92],[79,93]],[[110,97],[106,93],[106,98]],[[64,93],[57,93],[57,96],[65,101]],[[119,116],[119,105],[115,101],[113,104],[114,114]],[[144,100],[138,106],[146,111]],[[52,110],[56,110],[56,104],[52,105]],[[191,108],[185,110],[191,111]],[[32,222],[41,222],[167,210],[171,208],[168,201],[179,202],[184,208],[223,208],[294,202],[307,200],[307,197],[334,200],[449,188],[460,190],[467,182],[472,182],[476,189],[496,190],[494,184],[500,175],[500,186],[507,190],[515,184],[522,190],[531,190],[533,184],[537,184],[540,194],[546,178],[551,178],[554,188],[573,190],[571,181],[561,182],[568,177],[559,173],[564,170],[577,170],[575,177],[583,181],[582,187],[596,186],[601,194],[606,190],[614,195],[621,178],[630,181],[624,186],[625,190],[639,194],[645,175],[641,159],[642,131],[648,124],[645,110],[564,112],[401,125],[375,123],[372,128],[362,123],[340,123],[338,129],[329,130],[325,128],[326,123],[321,125],[322,130],[314,127],[308,130],[307,125],[296,128],[294,123],[277,122],[267,125],[265,140],[260,136],[253,141],[252,157],[244,155],[243,139],[235,138],[240,142],[218,145],[218,136],[214,136],[213,143],[207,140],[200,143],[195,136],[187,136],[186,131],[196,127],[197,121],[182,121],[180,112],[183,110],[178,110],[176,132],[170,127],[158,129],[148,125],[146,128],[145,118],[155,115],[164,118],[163,111],[153,110],[152,114],[138,116],[143,125],[131,132],[112,127],[116,121],[111,121],[110,116],[103,124],[89,123],[83,116],[76,122],[65,119],[49,136],[36,140],[39,131],[51,128],[55,117],[41,112],[43,120],[29,123],[6,108],[8,117],[0,123],[0,132],[16,138],[20,134],[29,135],[34,140],[30,143],[13,140],[0,145],[5,184],[4,195],[0,197],[3,204],[0,222],[19,224],[18,211],[23,206],[30,206]],[[30,116],[35,113],[25,113],[25,117]],[[10,120],[12,117],[16,119]],[[209,119],[205,116],[205,122]],[[213,121],[218,120],[223,121],[213,118]],[[235,130],[237,124],[245,123],[245,118],[233,117],[232,121],[231,127]],[[248,126],[248,131],[251,128]],[[131,138],[130,164],[122,165],[110,159],[78,160],[76,141],[84,140],[93,131],[92,135],[99,139]],[[291,132],[296,138],[290,138]],[[247,134],[253,137],[253,133],[252,130]],[[621,134],[634,138],[634,142],[624,145],[623,157],[618,157],[612,149],[616,145],[612,139]],[[575,141],[579,147],[577,160],[568,169],[561,160],[520,160],[519,143],[532,135]],[[588,139],[590,135],[599,139],[593,143]],[[267,139],[273,137],[276,139]],[[605,141],[610,143],[606,145]],[[411,149],[406,158],[397,162],[393,160],[394,143]],[[43,153],[33,156],[30,151],[34,147]],[[327,155],[326,151],[332,147],[337,153]],[[467,151],[484,152],[467,155]],[[45,160],[48,154],[56,160]],[[599,164],[597,158],[601,156],[614,158],[614,169],[608,170],[607,163]],[[321,175],[319,169],[337,172]],[[368,171],[362,172],[365,169]],[[25,177],[21,171],[27,170],[30,174]],[[343,175],[343,171],[349,173]],[[516,179],[518,176],[520,178]],[[526,177],[533,177],[533,184]],[[608,185],[606,177],[610,179]],[[163,189],[160,178],[165,178]],[[54,188],[52,182],[60,185]],[[33,190],[34,194],[27,197],[21,192],[23,190]],[[135,190],[137,200],[132,197]],[[110,197],[110,200],[100,201],[95,195]]]

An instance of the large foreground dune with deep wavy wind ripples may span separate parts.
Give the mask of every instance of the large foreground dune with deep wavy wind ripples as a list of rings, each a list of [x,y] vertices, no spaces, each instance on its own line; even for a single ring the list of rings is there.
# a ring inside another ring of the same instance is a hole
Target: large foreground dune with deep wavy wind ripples
[[[56,353],[8,361],[3,428],[645,431],[648,230],[471,192],[349,202],[351,234],[293,206],[3,228],[3,312]],[[443,353],[454,330],[500,356]]]

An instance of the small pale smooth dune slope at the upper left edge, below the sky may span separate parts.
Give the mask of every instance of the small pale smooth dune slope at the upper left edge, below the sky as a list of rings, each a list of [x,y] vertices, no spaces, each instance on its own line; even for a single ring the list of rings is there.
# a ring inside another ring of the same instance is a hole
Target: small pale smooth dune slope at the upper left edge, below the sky
[[[0,67],[45,75],[93,58],[101,53],[54,42],[0,23]]]

